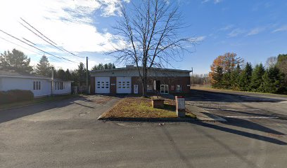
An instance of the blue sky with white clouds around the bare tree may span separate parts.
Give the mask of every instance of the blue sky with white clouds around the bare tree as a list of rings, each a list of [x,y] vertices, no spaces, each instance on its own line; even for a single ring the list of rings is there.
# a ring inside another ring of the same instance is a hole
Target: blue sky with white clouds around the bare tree
[[[106,52],[119,43],[113,26],[120,19],[117,2],[137,0],[1,0],[0,29],[22,41],[27,39],[46,52],[57,69],[76,69],[89,57],[89,67],[98,63],[115,62]],[[169,0],[172,1],[172,0]],[[184,16],[183,37],[197,37],[193,52],[186,52],[173,68],[208,73],[210,64],[225,52],[235,52],[253,65],[266,62],[268,57],[287,53],[286,0],[174,0]],[[30,23],[42,34],[77,56],[54,48],[23,27]],[[23,25],[21,25],[23,24]],[[24,39],[25,38],[25,39]],[[44,55],[0,31],[0,52],[21,50],[34,66]],[[117,62],[115,62],[117,63]],[[172,68],[172,67],[170,67]]]

